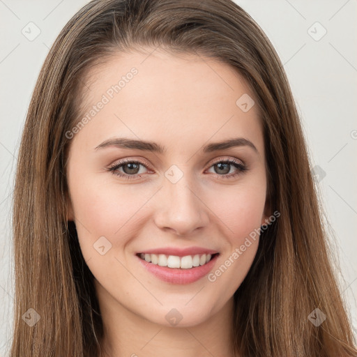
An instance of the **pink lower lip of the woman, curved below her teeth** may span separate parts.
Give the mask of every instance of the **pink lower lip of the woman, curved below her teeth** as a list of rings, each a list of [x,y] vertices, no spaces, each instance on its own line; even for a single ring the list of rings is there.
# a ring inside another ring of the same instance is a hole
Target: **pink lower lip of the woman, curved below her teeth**
[[[156,278],[164,282],[170,282],[172,284],[190,284],[191,282],[196,282],[197,280],[203,278],[212,270],[217,258],[218,254],[215,255],[210,261],[208,261],[208,263],[204,265],[195,266],[190,269],[175,269],[167,268],[167,266],[151,264],[145,261],[144,259],[137,257],[141,264],[150,273],[155,275]]]

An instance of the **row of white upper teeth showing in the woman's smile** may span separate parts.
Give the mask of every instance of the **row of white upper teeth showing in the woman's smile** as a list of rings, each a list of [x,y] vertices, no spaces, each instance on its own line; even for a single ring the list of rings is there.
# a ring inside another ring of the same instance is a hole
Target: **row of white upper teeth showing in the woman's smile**
[[[202,255],[186,255],[185,257],[177,257],[176,255],[165,255],[165,254],[140,254],[140,258],[144,259],[148,263],[167,266],[169,268],[181,268],[190,269],[195,266],[201,266],[211,260],[212,255],[202,254]]]

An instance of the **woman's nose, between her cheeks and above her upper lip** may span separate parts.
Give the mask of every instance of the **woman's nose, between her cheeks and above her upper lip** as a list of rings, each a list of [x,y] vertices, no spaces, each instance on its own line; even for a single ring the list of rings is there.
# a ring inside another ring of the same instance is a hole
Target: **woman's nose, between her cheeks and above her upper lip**
[[[176,183],[165,179],[155,212],[155,225],[177,236],[188,236],[195,229],[206,227],[209,220],[202,193],[185,176]]]

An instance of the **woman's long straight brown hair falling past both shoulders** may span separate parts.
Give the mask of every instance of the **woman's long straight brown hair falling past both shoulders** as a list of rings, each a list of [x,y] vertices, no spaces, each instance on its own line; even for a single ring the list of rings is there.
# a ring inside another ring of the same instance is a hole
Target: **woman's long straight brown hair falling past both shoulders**
[[[357,356],[301,122],[263,31],[231,0],[93,0],[52,46],[24,126],[13,206],[10,357],[100,354],[93,275],[66,219],[66,132],[80,119],[89,69],[117,52],[147,46],[227,63],[246,79],[259,105],[268,204],[280,217],[261,233],[252,267],[234,294],[232,350],[250,357]],[[308,319],[317,308],[326,315],[320,326]],[[40,319],[29,326],[25,313]]]

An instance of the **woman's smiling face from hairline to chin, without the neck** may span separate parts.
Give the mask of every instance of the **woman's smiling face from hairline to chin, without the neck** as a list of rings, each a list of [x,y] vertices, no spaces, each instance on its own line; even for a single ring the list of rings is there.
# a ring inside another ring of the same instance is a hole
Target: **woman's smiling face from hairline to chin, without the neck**
[[[86,119],[66,134],[68,220],[101,307],[206,321],[231,302],[267,218],[252,92],[227,64],[160,50],[117,54],[84,91]]]

